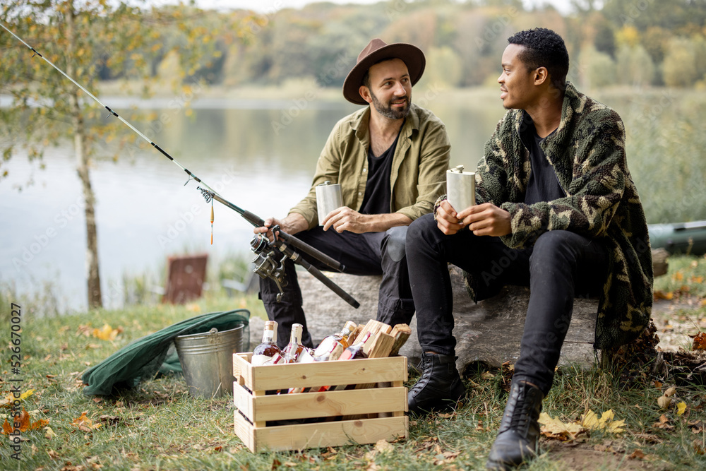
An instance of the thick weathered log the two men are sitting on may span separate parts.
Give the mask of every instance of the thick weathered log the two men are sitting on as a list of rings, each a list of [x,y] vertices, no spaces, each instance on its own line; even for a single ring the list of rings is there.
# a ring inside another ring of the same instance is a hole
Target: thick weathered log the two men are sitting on
[[[455,266],[449,266],[449,270],[453,285],[454,335],[458,357],[456,365],[459,371],[463,373],[468,366],[476,362],[500,366],[503,362],[517,361],[527,304],[530,300],[529,288],[504,287],[496,297],[474,304],[466,292],[461,270]],[[326,335],[339,332],[345,321],[366,323],[377,315],[381,276],[326,274],[357,299],[361,306],[354,309],[306,271],[298,272],[306,323],[315,344]],[[588,366],[594,363],[593,342],[597,311],[597,299],[575,300],[573,318],[561,350],[561,364]],[[421,360],[416,316],[410,327],[412,335],[400,350],[400,354],[407,356],[409,366],[412,367]],[[261,336],[261,321],[253,319],[251,347],[258,345]]]

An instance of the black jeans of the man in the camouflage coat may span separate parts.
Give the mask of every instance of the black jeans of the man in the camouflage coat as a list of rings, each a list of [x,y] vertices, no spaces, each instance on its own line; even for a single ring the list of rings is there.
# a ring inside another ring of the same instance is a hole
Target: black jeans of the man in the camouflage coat
[[[530,249],[505,246],[499,237],[465,229],[445,235],[433,215],[407,231],[407,261],[419,343],[424,352],[455,354],[453,296],[447,262],[472,273],[477,300],[503,285],[530,287],[520,359],[514,377],[549,393],[575,297],[598,296],[606,280],[608,251],[595,239],[568,231],[542,234]]]

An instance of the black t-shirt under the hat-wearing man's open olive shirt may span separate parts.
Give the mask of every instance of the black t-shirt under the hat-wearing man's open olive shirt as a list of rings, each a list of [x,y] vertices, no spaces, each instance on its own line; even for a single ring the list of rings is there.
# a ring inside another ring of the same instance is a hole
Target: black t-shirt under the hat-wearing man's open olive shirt
[[[400,127],[402,131],[402,127]],[[373,150],[368,148],[368,181],[365,185],[365,196],[360,207],[361,214],[387,214],[390,213],[390,173],[393,168],[393,156],[397,148],[397,133],[395,142],[385,150],[380,157],[373,155]]]

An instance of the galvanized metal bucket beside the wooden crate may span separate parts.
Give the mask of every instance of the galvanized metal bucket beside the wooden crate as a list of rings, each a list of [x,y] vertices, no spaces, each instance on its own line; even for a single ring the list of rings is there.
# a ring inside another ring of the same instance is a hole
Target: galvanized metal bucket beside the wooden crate
[[[243,328],[179,335],[174,339],[189,393],[215,398],[233,392],[233,354],[242,350]]]

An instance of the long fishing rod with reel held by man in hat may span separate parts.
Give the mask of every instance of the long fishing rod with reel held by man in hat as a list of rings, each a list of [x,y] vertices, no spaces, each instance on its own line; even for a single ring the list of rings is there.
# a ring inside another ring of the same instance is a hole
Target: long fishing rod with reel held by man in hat
[[[61,70],[61,68],[57,67],[54,65],[52,61],[49,61],[46,57],[42,56],[40,52],[37,51],[34,47],[30,46],[30,44],[27,44],[21,37],[16,35],[14,32],[11,30],[8,30],[6,26],[2,23],[0,23],[0,26],[9,32],[11,35],[13,35],[16,40],[21,42],[22,44],[25,44],[34,54],[32,54],[32,57],[34,56],[40,56],[42,59],[44,59],[47,64],[50,66],[54,67],[61,75],[64,77],[68,78],[71,82],[73,82],[74,85],[76,85],[78,88],[83,90],[83,92],[86,93],[89,97],[91,97],[95,102],[98,103],[98,105],[101,105],[105,109],[108,110],[110,114],[112,114],[114,117],[122,121],[128,128],[132,129],[135,133],[138,134],[141,138],[143,138],[145,141],[150,143],[153,148],[157,149],[164,157],[167,157],[169,160],[174,162],[177,167],[180,169],[184,170],[187,175],[189,175],[189,179],[186,181],[186,183],[189,183],[189,181],[196,180],[201,186],[197,186],[197,189],[201,191],[201,195],[203,198],[205,198],[206,203],[211,203],[211,244],[213,244],[213,200],[218,201],[219,203],[222,203],[225,205],[227,208],[230,208],[234,210],[236,213],[244,217],[244,219],[248,222],[250,222],[254,227],[263,227],[265,225],[265,221],[259,217],[258,215],[251,213],[250,211],[246,211],[242,208],[239,208],[237,205],[234,205],[230,201],[227,201],[227,199],[223,198],[220,196],[220,194],[217,193],[213,188],[208,186],[203,180],[200,178],[196,177],[193,172],[191,172],[189,169],[184,167],[184,165],[181,165],[177,160],[174,159],[169,153],[167,153],[166,150],[162,149],[159,145],[155,144],[152,142],[150,138],[145,136],[140,130],[138,130],[135,126],[130,124],[126,119],[121,117],[119,114],[114,112],[113,109],[105,105],[103,102],[98,100],[98,98],[90,93],[90,91],[86,90],[83,85],[80,85],[77,81],[73,80],[68,74],[64,71]],[[110,114],[107,116],[109,117]],[[333,268],[333,270],[338,270],[342,272],[345,270],[345,266],[343,266],[341,263],[336,261],[334,258],[331,258],[330,256],[324,254],[322,251],[319,251],[318,249],[315,249],[314,247],[310,246],[309,244],[306,244],[306,242],[303,242],[297,237],[294,237],[293,235],[287,234],[286,232],[282,232],[280,230],[280,227],[278,225],[275,225],[273,227],[270,227],[273,233],[273,241],[270,242],[267,237],[263,236],[263,234],[256,234],[255,237],[251,240],[251,249],[253,252],[256,254],[256,257],[253,259],[253,263],[255,263],[255,269],[253,270],[260,278],[270,278],[275,282],[277,285],[277,288],[280,290],[280,292],[277,294],[277,302],[279,302],[282,299],[282,287],[287,285],[287,280],[285,280],[285,260],[287,258],[291,258],[294,263],[299,263],[302,267],[304,267],[311,275],[313,275],[314,278],[317,280],[323,282],[324,285],[326,285],[330,290],[335,292],[338,296],[340,296],[342,299],[345,300],[348,304],[353,306],[354,308],[358,308],[360,306],[359,302],[357,302],[350,294],[342,290],[342,288],[338,285],[335,284],[330,278],[328,278],[326,275],[321,273],[318,268],[315,266],[311,265],[309,261],[306,261],[305,258],[302,258],[297,251],[294,251],[294,249],[298,249],[299,251],[304,252],[305,254],[308,254],[309,256],[312,256],[313,258],[316,258],[316,260],[320,261],[321,263],[324,263],[326,266]],[[289,245],[294,247],[290,247]],[[277,251],[280,251],[282,254],[282,257],[280,258],[279,255],[277,255]]]

